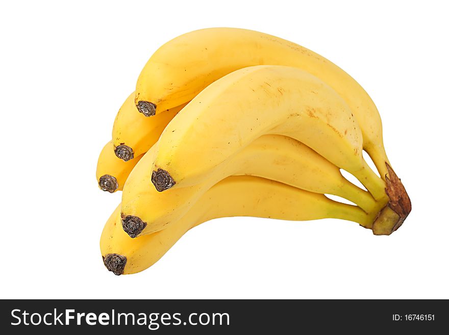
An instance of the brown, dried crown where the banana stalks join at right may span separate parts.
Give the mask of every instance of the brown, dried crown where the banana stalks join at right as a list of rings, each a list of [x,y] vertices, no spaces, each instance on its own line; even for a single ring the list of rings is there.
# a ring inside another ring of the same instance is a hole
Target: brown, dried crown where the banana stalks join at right
[[[372,232],[375,235],[390,235],[405,221],[412,210],[412,203],[405,190],[401,179],[397,177],[388,163],[388,175],[385,176],[385,192],[390,198],[387,205],[379,212],[373,225]]]

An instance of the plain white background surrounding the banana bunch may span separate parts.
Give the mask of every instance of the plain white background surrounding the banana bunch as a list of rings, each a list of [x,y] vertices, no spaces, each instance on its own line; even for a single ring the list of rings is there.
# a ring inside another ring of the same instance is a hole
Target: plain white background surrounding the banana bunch
[[[442,3],[2,2],[1,298],[449,298]],[[413,211],[381,237],[337,220],[215,220],[114,276],[98,242],[120,193],[98,190],[95,167],[115,114],[160,45],[223,26],[304,45],[359,81]]]

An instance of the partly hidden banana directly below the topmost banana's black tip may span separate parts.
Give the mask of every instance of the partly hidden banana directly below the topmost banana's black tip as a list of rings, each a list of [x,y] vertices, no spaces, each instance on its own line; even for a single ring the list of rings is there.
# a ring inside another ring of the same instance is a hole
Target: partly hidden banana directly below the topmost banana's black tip
[[[115,154],[123,161],[148,151],[159,139],[165,126],[185,106],[176,106],[154,118],[137,113],[134,92],[123,102],[112,128]]]

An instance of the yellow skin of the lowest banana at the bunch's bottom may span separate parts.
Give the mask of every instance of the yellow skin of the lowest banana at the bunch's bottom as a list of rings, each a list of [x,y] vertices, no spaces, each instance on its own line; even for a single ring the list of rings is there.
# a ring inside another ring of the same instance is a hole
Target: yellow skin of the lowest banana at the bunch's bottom
[[[369,227],[372,218],[358,207],[282,183],[254,176],[231,176],[208,190],[177,222],[151,235],[130,238],[121,229],[120,206],[106,223],[100,240],[105,260],[118,254],[115,274],[136,273],[155,264],[190,228],[220,217],[253,216],[282,220],[337,218]],[[126,257],[124,271],[120,268]],[[118,266],[117,266],[118,265]]]

